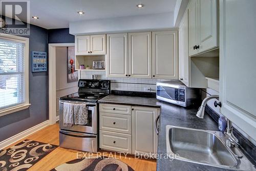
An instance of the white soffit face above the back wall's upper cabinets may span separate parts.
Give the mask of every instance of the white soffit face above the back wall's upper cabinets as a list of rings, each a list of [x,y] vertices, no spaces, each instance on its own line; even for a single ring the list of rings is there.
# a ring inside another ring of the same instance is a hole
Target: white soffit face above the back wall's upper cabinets
[[[92,33],[112,33],[146,29],[173,28],[173,12],[125,16],[116,18],[74,21],[69,23],[69,33],[73,35]]]

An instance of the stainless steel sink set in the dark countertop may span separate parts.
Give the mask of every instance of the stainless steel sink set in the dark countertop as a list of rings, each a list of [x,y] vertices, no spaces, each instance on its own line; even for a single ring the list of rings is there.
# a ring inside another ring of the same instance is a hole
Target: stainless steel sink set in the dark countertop
[[[174,159],[231,170],[256,170],[237,147],[225,144],[227,140],[219,131],[166,126],[166,151]]]

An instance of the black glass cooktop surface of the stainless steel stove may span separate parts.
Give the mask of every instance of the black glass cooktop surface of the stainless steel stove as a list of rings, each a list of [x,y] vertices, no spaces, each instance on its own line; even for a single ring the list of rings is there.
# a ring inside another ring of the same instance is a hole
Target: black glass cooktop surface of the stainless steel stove
[[[98,100],[103,98],[108,94],[100,94],[100,93],[73,93],[63,97],[60,97],[60,100],[65,101],[79,101],[79,102],[94,102],[96,103]]]

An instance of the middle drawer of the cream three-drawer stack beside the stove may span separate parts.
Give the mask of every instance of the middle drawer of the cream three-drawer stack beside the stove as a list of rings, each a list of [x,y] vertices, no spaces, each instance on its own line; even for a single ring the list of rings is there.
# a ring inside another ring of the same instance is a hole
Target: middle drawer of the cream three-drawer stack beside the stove
[[[131,115],[99,113],[100,130],[131,134]]]

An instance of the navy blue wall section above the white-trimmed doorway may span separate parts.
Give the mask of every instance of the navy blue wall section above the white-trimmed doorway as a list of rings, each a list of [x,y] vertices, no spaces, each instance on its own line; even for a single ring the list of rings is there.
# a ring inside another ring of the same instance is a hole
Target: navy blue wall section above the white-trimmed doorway
[[[48,43],[74,43],[75,36],[69,34],[69,28],[48,30]]]

